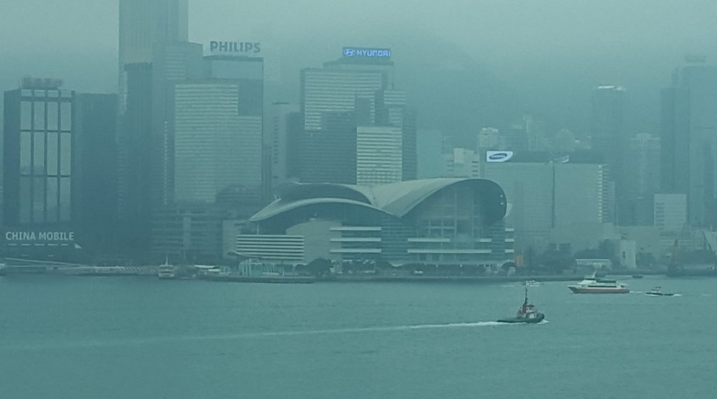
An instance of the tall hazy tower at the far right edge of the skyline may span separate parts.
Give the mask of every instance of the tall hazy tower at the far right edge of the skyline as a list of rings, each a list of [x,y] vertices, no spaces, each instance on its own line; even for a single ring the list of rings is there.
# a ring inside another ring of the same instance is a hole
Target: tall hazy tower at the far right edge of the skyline
[[[688,223],[717,222],[717,67],[675,71],[662,92],[662,189],[687,194]]]

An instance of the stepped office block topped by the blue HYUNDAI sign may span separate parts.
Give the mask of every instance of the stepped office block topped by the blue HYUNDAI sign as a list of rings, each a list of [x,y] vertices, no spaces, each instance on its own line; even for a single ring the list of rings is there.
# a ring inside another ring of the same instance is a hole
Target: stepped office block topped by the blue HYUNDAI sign
[[[417,177],[415,114],[394,86],[394,62],[344,49],[301,71],[301,182],[386,184]]]

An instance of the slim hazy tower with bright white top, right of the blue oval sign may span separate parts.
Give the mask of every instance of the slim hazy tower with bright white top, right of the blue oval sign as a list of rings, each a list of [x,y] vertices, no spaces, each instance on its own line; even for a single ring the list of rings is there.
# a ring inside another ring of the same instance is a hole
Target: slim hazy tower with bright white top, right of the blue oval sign
[[[619,86],[599,86],[592,91],[591,114],[592,149],[605,157],[609,179],[614,182],[618,218],[625,208],[625,184],[622,159],[627,142],[625,137],[625,89]]]

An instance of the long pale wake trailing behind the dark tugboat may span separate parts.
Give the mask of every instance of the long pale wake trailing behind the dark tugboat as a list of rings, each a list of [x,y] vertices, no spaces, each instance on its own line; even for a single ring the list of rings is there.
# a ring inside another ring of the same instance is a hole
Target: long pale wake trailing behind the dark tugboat
[[[543,320],[537,324],[546,324],[547,320]],[[39,343],[37,345],[3,345],[0,346],[0,352],[3,350],[67,350],[77,348],[103,348],[103,347],[123,347],[134,345],[152,345],[163,343],[182,343],[192,341],[219,341],[219,340],[242,340],[250,338],[272,338],[272,337],[295,337],[302,335],[331,335],[331,334],[353,334],[353,333],[381,333],[381,332],[397,332],[412,330],[439,330],[439,329],[455,329],[455,328],[475,328],[475,327],[496,327],[501,325],[511,325],[511,323],[496,321],[480,321],[480,322],[453,322],[447,324],[417,324],[417,325],[395,325],[385,327],[355,327],[355,328],[335,328],[326,330],[290,330],[290,331],[267,331],[261,333],[237,333],[224,335],[181,335],[174,337],[151,337],[137,338],[126,340],[83,340],[65,343]]]

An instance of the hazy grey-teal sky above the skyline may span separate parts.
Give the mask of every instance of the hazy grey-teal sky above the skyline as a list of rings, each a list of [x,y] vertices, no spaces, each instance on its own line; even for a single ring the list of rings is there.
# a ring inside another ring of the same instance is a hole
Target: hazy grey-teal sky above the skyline
[[[32,74],[64,77],[85,92],[114,92],[117,2],[0,0],[0,88]],[[587,122],[590,88],[622,84],[630,126],[653,130],[659,89],[683,55],[717,61],[715,16],[713,0],[190,0],[190,39],[262,41],[294,93],[282,94],[288,97],[295,97],[300,67],[337,58],[341,46],[390,46],[407,76],[419,62],[432,71],[484,74],[462,102],[515,97],[515,112],[545,114],[576,130]],[[402,87],[409,98],[412,79]],[[493,84],[480,83],[488,80]],[[440,95],[450,97],[445,84]],[[441,89],[425,86],[414,96]],[[503,90],[510,93],[494,93]],[[419,106],[427,101],[419,98]]]

